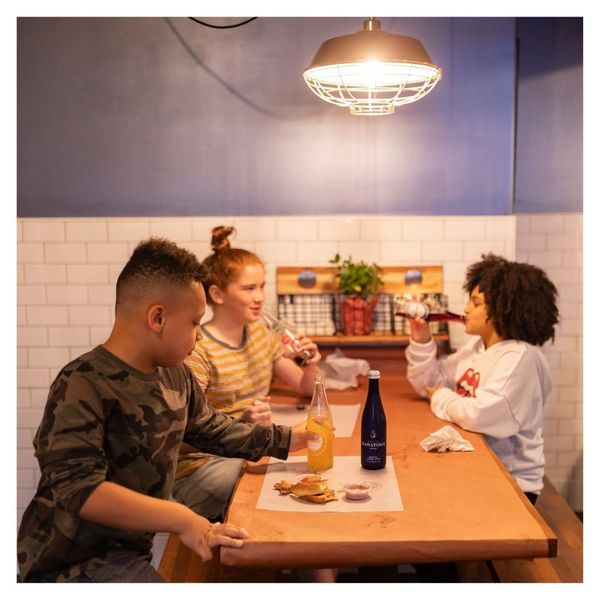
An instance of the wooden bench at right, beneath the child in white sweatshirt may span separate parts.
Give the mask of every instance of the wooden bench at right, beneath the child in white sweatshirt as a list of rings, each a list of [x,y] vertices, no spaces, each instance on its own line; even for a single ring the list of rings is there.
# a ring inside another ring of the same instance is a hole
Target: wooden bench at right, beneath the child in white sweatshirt
[[[544,489],[535,507],[556,534],[558,556],[554,558],[461,562],[458,563],[461,581],[582,583],[582,522],[547,478],[544,478]]]

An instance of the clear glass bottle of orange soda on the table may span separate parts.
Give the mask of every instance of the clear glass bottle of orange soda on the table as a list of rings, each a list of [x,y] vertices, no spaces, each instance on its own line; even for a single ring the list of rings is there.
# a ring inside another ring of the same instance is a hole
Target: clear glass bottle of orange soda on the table
[[[333,418],[325,393],[325,378],[315,377],[312,402],[306,419],[306,431],[319,436],[308,441],[308,470],[324,471],[333,466]]]

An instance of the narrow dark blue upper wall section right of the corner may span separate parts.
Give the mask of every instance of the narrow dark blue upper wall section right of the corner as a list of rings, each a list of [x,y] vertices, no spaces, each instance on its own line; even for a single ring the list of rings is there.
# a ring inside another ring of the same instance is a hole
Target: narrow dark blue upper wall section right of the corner
[[[517,19],[515,212],[583,210],[583,19]]]

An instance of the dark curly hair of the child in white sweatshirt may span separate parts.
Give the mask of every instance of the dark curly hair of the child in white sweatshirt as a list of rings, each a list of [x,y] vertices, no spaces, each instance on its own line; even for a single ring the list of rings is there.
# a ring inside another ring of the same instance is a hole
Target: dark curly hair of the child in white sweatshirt
[[[479,286],[485,294],[488,316],[498,335],[536,346],[554,340],[558,292],[546,273],[494,254],[481,258],[467,269],[464,289],[470,294]]]

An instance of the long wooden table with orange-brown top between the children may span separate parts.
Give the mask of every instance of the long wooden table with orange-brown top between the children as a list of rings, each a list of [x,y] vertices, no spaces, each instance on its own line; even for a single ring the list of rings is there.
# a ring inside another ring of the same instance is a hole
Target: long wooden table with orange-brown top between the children
[[[556,536],[479,434],[458,431],[474,452],[426,453],[419,442],[446,423],[407,382],[402,360],[371,360],[381,371],[388,455],[404,511],[309,514],[256,508],[267,459],[249,463],[228,520],[250,532],[244,547],[221,548],[222,567],[297,568],[556,556]],[[354,390],[328,391],[331,404],[364,403]],[[277,383],[274,402],[301,402]],[[303,454],[305,451],[297,453]],[[335,455],[360,456],[360,415]]]

